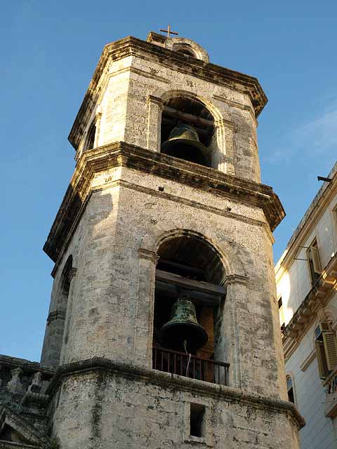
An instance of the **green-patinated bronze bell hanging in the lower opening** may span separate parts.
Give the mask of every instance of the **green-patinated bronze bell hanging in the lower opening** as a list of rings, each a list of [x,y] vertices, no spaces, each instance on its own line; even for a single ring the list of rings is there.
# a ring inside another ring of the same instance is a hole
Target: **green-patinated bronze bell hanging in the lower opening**
[[[194,352],[207,342],[206,330],[197,321],[194,304],[180,296],[171,309],[171,319],[161,328],[165,347],[176,351]]]

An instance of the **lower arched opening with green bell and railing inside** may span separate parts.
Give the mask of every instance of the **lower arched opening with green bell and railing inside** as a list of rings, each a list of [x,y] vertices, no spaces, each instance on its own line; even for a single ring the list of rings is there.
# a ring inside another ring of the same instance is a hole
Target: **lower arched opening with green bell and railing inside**
[[[227,364],[214,361],[218,306],[225,297],[218,251],[186,232],[161,243],[157,255],[154,368],[227,383]]]

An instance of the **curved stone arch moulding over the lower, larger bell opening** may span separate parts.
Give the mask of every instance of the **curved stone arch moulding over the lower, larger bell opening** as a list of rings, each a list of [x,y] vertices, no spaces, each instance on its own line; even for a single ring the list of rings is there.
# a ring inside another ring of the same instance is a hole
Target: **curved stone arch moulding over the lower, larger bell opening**
[[[148,232],[143,237],[143,241],[140,246],[140,251],[143,250],[146,253],[152,253],[157,255],[157,250],[164,241],[173,239],[178,236],[191,236],[197,239],[204,239],[206,243],[216,250],[220,260],[223,262],[225,268],[226,277],[239,276],[242,279],[246,279],[246,272],[244,270],[244,264],[242,260],[234,252],[234,243],[230,239],[223,239],[221,245],[218,245],[213,239],[204,234],[204,232],[195,231],[186,228],[177,228],[172,223],[166,222],[165,225],[155,225],[151,232]]]

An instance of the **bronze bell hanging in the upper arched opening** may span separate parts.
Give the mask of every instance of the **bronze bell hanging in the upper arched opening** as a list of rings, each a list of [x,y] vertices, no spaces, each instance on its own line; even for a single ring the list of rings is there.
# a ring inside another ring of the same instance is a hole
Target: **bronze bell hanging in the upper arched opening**
[[[161,145],[161,152],[185,161],[209,166],[209,152],[200,142],[193,126],[180,124],[173,128],[170,137]]]

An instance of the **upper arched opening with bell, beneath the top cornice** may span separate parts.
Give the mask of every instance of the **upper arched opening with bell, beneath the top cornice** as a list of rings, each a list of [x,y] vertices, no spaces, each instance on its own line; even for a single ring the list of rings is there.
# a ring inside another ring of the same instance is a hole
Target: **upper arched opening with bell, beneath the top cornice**
[[[161,153],[211,166],[214,118],[204,103],[178,95],[164,102]]]

